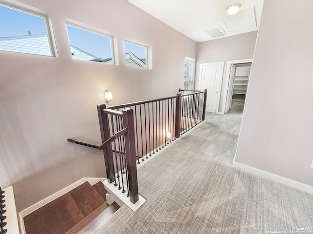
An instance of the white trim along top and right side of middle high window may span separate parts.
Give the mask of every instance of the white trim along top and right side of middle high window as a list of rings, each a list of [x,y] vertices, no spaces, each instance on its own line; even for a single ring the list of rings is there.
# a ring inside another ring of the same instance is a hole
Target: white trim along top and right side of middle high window
[[[95,33],[95,34],[98,34],[100,36],[104,36],[104,37],[110,38],[112,63],[107,63],[107,64],[118,65],[118,53],[117,53],[117,39],[116,39],[116,35],[114,35],[114,34],[112,34],[110,32],[107,32],[107,31],[104,31],[104,30],[92,27],[92,26],[90,26],[88,24],[84,24],[84,23],[81,23],[81,22],[78,22],[78,21],[75,21],[75,20],[71,20],[71,19],[66,19],[66,25],[71,26],[71,27],[75,27],[75,28],[78,28],[78,29],[82,29],[82,30],[85,30],[85,31],[88,31],[90,33]],[[67,33],[67,36],[68,36],[68,33]],[[106,63],[104,63],[104,64],[106,64]]]

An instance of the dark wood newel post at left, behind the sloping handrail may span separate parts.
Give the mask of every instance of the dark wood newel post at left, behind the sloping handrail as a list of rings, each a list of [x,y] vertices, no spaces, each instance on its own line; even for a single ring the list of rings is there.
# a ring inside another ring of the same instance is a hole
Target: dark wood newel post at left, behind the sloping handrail
[[[97,105],[97,109],[98,109],[101,139],[103,143],[107,139],[110,138],[108,115],[105,113],[102,113],[102,110],[106,109],[106,105],[99,104]],[[105,163],[106,171],[107,171],[107,179],[109,183],[112,183],[115,181],[115,174],[114,174],[114,163],[113,163],[113,154],[112,154],[111,144],[110,146],[106,147],[103,150],[103,156],[104,156],[104,163]]]

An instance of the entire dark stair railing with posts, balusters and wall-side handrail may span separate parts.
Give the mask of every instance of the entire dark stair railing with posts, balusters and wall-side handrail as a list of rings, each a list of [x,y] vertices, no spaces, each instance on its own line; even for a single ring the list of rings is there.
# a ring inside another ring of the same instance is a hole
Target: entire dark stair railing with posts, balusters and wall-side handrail
[[[107,107],[98,116],[109,183],[138,200],[136,164],[172,143],[205,119],[207,90],[181,90],[173,97]],[[92,148],[95,145],[67,139]]]

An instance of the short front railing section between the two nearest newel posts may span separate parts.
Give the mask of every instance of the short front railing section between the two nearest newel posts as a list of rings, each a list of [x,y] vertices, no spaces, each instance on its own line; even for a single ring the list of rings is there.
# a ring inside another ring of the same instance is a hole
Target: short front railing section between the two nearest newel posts
[[[122,189],[122,193],[127,190],[127,196],[135,203],[138,200],[138,182],[133,110],[111,110],[105,104],[99,104],[97,108],[104,142],[98,149],[103,150],[108,182],[114,182],[114,186]]]

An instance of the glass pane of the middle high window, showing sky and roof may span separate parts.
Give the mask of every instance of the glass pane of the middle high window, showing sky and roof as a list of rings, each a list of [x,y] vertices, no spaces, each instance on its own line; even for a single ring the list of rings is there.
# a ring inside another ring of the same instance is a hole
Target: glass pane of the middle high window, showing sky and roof
[[[67,25],[73,59],[114,63],[111,38]]]

